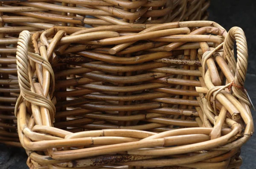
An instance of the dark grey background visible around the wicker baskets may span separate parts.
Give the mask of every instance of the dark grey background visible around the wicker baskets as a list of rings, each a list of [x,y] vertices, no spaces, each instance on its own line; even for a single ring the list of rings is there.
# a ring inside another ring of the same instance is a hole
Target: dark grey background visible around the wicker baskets
[[[256,106],[256,0],[211,0],[209,20],[215,21],[229,30],[233,26],[241,27],[247,37],[249,65],[245,87]],[[253,120],[256,120],[256,112]],[[243,147],[241,169],[256,169],[256,136]],[[0,169],[27,169],[26,153],[23,149],[0,144]]]

